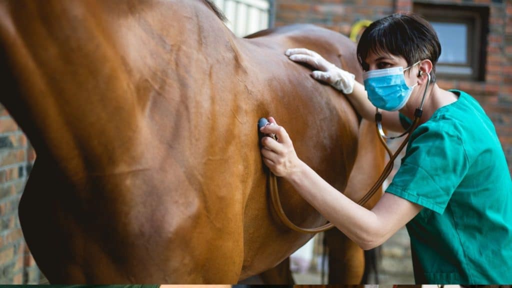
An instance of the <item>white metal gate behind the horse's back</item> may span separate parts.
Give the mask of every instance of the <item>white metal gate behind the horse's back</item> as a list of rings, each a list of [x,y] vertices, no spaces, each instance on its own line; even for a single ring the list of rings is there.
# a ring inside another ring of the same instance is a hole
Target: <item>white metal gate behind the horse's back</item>
[[[229,22],[226,26],[239,37],[274,26],[275,0],[214,0]]]

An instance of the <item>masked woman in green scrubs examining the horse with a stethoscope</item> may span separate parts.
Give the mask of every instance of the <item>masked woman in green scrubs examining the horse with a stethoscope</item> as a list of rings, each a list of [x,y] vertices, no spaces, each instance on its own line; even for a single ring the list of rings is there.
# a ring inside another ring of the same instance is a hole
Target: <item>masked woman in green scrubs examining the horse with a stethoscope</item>
[[[478,102],[435,82],[441,53],[432,26],[414,14],[394,14],[361,35],[357,57],[364,86],[317,53],[290,49],[312,76],[343,91],[357,111],[403,132],[423,113],[401,166],[372,210],[336,191],[296,155],[286,130],[261,129],[265,164],[362,249],[386,241],[403,225],[411,237],[416,283],[512,283],[512,182],[492,122]],[[432,78],[429,85],[429,75]],[[314,117],[314,115],[310,115]],[[307,141],[307,139],[301,139]],[[364,194],[364,193],[362,193]]]

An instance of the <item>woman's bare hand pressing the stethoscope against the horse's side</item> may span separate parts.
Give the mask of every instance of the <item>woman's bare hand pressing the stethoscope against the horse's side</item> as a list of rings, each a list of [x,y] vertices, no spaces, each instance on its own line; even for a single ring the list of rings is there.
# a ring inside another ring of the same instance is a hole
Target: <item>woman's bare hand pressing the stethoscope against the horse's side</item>
[[[298,171],[302,161],[298,159],[286,130],[279,126],[273,117],[269,117],[268,120],[269,124],[262,127],[260,131],[265,134],[275,134],[278,140],[268,136],[261,139],[263,162],[276,176],[289,178]]]

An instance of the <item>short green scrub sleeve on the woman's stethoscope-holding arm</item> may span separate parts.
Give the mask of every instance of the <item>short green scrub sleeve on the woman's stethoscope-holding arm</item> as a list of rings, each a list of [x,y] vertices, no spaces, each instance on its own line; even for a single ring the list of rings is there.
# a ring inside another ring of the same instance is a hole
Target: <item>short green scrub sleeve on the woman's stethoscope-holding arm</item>
[[[442,214],[467,170],[465,149],[455,130],[426,122],[411,135],[400,169],[386,192]]]

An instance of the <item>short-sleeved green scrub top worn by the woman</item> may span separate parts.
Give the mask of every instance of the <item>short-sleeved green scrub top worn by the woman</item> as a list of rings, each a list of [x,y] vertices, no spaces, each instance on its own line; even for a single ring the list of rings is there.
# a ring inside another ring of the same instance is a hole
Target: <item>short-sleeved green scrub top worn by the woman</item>
[[[411,135],[387,188],[423,206],[407,225],[416,283],[512,283],[512,181],[493,123],[470,95]]]

